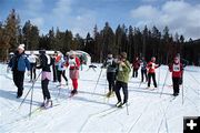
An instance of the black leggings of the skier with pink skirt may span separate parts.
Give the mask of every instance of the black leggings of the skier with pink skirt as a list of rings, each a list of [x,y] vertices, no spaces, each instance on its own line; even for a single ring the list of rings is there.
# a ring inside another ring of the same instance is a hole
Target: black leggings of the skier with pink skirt
[[[49,100],[49,99],[51,99],[51,95],[50,95],[49,89],[48,89],[49,80],[48,80],[48,79],[42,80],[42,81],[41,81],[41,84],[42,84],[43,100]]]

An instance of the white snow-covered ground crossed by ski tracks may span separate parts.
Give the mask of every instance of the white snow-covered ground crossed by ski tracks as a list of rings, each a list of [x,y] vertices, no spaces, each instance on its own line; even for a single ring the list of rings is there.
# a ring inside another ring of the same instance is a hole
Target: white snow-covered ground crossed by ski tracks
[[[12,82],[11,72],[7,73],[6,70],[7,65],[0,64],[0,132],[181,133],[183,116],[200,115],[200,68],[196,66],[187,66],[184,71],[183,104],[182,91],[171,101],[170,73],[163,85],[167,66],[162,65],[157,70],[159,89],[154,91],[147,90],[144,83],[140,85],[139,71],[138,79],[130,78],[128,109],[113,108],[117,103],[116,96],[110,99],[103,96],[108,92],[106,70],[102,71],[94,90],[100,65],[96,69],[97,72],[87,71],[87,66],[80,72],[79,94],[72,99],[68,98],[72,89],[70,80],[69,88],[62,88],[59,96],[58,83],[50,82],[49,89],[56,106],[49,110],[36,111],[42,102],[39,79],[33,90],[34,113],[31,117],[29,117],[30,94],[19,109],[19,104],[32,85],[28,82],[29,76],[26,75],[23,96],[16,99],[17,88]]]

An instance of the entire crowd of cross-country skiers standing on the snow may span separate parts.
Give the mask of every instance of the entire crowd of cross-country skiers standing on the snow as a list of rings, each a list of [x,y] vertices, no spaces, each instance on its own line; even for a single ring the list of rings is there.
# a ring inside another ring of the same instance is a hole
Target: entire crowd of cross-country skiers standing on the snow
[[[117,108],[121,108],[123,104],[128,103],[128,82],[131,68],[132,78],[138,78],[138,70],[141,68],[141,82],[148,82],[147,88],[150,88],[152,79],[154,88],[158,86],[156,81],[156,69],[159,68],[160,64],[156,63],[154,57],[152,57],[148,63],[144,58],[136,58],[136,60],[132,62],[132,66],[127,58],[126,52],[121,52],[116,59],[113,58],[112,53],[109,53],[102,65],[102,68],[107,69],[107,80],[109,83],[109,92],[106,94],[106,96],[110,98],[116,94],[118,100],[116,104]],[[73,86],[71,95],[74,95],[78,93],[80,65],[80,59],[77,57],[74,51],[67,52],[66,55],[58,51],[53,57],[50,57],[46,53],[46,50],[40,50],[39,57],[34,55],[33,52],[27,57],[24,53],[24,44],[20,44],[18,47],[14,55],[9,62],[9,68],[11,68],[13,71],[13,82],[18,88],[18,99],[23,94],[26,68],[28,70],[28,75],[31,74],[30,82],[32,83],[37,81],[36,69],[42,70],[40,73],[41,89],[43,94],[42,106],[46,108],[52,106],[52,100],[48,89],[49,81],[51,81],[51,66],[53,70],[53,82],[58,81],[59,85],[62,85],[61,76],[64,79],[66,85],[68,85],[66,70],[69,68],[69,76]],[[184,66],[186,65],[180,62],[180,57],[176,57],[173,62],[169,64],[169,71],[172,72],[174,96],[179,94],[179,84],[181,83]],[[121,100],[120,89],[122,89],[123,92],[123,101]]]

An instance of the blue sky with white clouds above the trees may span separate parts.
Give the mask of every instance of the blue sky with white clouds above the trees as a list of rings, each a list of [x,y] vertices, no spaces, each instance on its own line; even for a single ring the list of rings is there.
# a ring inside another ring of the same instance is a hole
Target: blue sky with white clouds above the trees
[[[108,21],[113,30],[122,23],[160,30],[169,25],[172,33],[200,38],[200,0],[0,0],[0,21],[12,8],[22,25],[31,20],[44,34],[59,27],[86,37],[94,24],[102,29]]]

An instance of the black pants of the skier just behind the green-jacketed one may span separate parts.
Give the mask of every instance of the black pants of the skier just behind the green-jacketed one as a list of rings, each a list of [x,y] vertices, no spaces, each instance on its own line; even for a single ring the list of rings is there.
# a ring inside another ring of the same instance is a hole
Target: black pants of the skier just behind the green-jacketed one
[[[114,90],[116,72],[107,72],[107,80],[109,82],[109,91]]]

